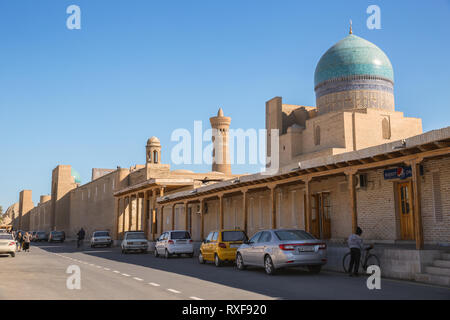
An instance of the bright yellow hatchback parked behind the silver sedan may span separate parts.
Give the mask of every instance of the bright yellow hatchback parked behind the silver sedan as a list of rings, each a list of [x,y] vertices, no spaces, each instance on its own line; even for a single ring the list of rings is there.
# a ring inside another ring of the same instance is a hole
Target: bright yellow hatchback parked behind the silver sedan
[[[220,267],[224,261],[234,262],[237,248],[246,241],[247,235],[242,230],[218,230],[210,232],[200,246],[198,261],[214,261]]]

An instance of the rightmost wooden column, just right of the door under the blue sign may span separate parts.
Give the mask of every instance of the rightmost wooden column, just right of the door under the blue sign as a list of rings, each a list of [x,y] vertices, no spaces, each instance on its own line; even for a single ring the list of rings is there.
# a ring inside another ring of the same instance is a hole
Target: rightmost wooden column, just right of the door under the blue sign
[[[416,238],[416,249],[422,250],[424,246],[423,241],[423,226],[422,226],[422,210],[421,210],[421,178],[420,178],[420,162],[423,159],[417,159],[411,161],[412,169],[412,183],[413,183],[413,196],[414,196],[414,233]]]

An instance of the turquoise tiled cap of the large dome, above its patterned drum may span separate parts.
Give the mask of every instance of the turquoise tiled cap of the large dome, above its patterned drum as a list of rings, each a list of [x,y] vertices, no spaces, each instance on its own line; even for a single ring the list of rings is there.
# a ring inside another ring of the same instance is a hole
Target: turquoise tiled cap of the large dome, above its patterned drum
[[[342,77],[369,75],[394,82],[394,70],[387,55],[373,43],[348,35],[320,58],[314,74],[314,87]]]

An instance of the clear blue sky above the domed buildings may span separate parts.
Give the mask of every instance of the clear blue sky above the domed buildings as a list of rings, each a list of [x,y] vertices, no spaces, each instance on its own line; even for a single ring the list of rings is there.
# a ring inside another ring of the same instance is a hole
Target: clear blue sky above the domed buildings
[[[71,4],[81,30],[66,28]],[[366,27],[370,4],[381,30]],[[315,105],[315,66],[349,19],[389,56],[397,110],[424,131],[450,125],[448,0],[1,1],[0,205],[22,189],[37,203],[58,164],[83,183],[93,167],[143,164],[153,135],[168,162],[171,132],[209,125],[218,106],[247,129],[264,128],[274,96]]]

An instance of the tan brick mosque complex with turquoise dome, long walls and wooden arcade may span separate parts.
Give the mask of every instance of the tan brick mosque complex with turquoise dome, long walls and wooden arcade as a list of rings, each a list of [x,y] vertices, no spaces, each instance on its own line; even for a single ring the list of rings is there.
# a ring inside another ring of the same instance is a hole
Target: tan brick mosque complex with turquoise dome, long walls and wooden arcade
[[[233,175],[226,162],[208,173],[171,170],[153,137],[145,165],[93,169],[84,185],[58,166],[37,206],[21,192],[13,225],[69,237],[81,226],[109,229],[115,239],[145,230],[150,240],[187,229],[196,241],[219,228],[301,228],[327,241],[330,269],[341,268],[344,239],[360,226],[366,241],[385,246],[385,275],[450,285],[450,268],[433,265],[450,245],[450,127],[423,133],[421,119],[396,110],[388,56],[352,30],[320,58],[314,90],[315,107],[266,102],[276,173]],[[222,133],[214,151],[227,155],[231,118],[219,110],[211,125]]]

